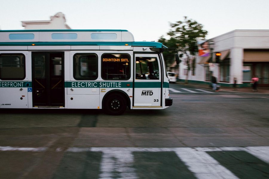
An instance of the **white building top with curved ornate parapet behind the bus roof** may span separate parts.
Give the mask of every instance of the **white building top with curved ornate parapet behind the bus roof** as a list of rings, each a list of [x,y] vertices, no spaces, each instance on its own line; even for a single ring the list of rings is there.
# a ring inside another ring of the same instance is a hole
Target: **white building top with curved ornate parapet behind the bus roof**
[[[51,16],[51,20],[47,21],[22,21],[22,27],[25,30],[71,29],[65,22],[65,15],[59,12]]]

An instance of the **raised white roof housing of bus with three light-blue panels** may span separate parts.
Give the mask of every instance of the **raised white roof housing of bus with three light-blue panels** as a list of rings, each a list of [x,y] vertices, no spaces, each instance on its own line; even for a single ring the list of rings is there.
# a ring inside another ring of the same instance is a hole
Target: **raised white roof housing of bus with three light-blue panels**
[[[0,30],[0,42],[133,42],[128,30]]]

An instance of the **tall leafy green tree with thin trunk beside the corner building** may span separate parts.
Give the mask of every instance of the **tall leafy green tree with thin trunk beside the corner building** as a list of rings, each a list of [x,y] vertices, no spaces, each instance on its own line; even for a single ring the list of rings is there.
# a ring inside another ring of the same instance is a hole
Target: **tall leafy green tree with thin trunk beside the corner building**
[[[192,64],[191,58],[198,53],[197,41],[206,37],[207,31],[203,30],[203,25],[197,21],[188,19],[184,16],[184,21],[177,21],[170,23],[171,30],[167,35],[170,36],[169,40],[165,40],[163,37],[159,39],[159,42],[163,43],[169,48],[177,48],[179,52],[183,53],[187,58],[188,73],[185,83],[188,82],[189,70]],[[168,61],[171,58],[168,56]],[[192,65],[195,68],[195,65]],[[194,69],[193,69],[194,70]]]

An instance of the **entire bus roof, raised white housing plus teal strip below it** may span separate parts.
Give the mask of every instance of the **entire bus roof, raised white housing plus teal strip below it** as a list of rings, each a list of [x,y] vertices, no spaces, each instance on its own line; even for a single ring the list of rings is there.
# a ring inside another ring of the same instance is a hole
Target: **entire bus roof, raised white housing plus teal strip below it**
[[[0,46],[134,46],[163,48],[159,42],[135,42],[128,30],[0,30]]]

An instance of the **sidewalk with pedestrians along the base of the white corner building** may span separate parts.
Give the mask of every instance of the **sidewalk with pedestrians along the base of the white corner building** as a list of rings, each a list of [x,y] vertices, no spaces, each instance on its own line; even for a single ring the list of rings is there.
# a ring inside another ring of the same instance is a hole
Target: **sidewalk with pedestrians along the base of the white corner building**
[[[212,88],[209,87],[208,84],[199,84],[199,83],[188,83],[185,84],[185,82],[178,81],[176,82],[177,84],[181,85],[186,85],[186,86],[191,86],[191,87],[198,87],[198,88],[204,88],[208,90],[212,90]],[[237,88],[236,91],[233,90],[233,87],[220,87],[220,92],[221,91],[231,91],[231,92],[249,92],[249,93],[262,93],[262,94],[269,94],[269,87],[259,87],[258,86],[258,92],[253,92],[251,87],[242,87],[242,88]]]

